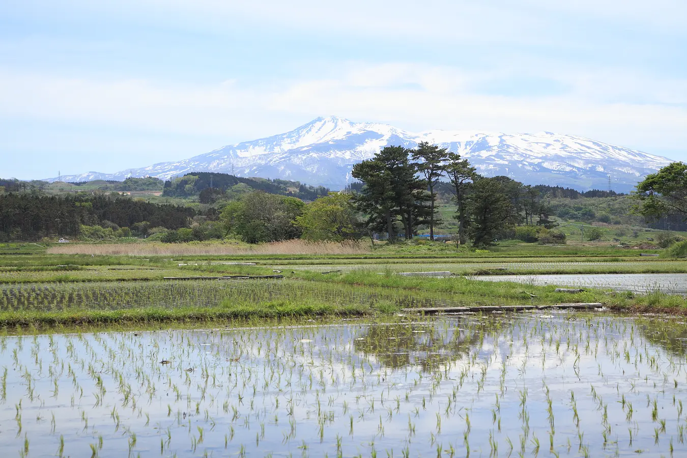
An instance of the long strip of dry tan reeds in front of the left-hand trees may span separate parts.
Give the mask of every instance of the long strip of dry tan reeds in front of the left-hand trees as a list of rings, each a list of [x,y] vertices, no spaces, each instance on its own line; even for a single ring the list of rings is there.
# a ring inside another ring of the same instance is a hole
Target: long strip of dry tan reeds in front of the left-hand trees
[[[240,243],[74,243],[50,247],[47,253],[58,255],[357,255],[369,253],[366,244],[357,242],[306,242],[287,240],[256,245]]]

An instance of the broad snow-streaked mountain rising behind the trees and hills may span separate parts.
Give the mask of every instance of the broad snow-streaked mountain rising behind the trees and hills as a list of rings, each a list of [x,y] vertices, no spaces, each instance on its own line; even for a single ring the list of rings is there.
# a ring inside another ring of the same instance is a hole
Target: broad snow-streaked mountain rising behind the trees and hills
[[[475,133],[428,130],[410,133],[387,124],[318,117],[290,132],[224,146],[176,162],[161,162],[113,174],[63,175],[62,181],[122,180],[127,176],[169,179],[188,172],[223,172],[238,176],[301,181],[338,190],[353,181],[355,163],[385,146],[415,148],[429,141],[466,157],[485,176],[506,175],[526,184],[629,192],[646,174],[672,161],[598,141],[549,132]],[[55,178],[48,181],[56,181]]]

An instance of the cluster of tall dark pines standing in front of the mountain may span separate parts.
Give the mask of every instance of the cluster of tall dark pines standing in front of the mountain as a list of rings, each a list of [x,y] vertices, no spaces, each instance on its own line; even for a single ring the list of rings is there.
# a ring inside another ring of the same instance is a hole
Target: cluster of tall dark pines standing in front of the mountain
[[[547,230],[555,225],[536,187],[507,176],[482,176],[460,154],[427,142],[415,150],[387,146],[354,165],[352,176],[362,183],[350,190],[364,215],[363,226],[368,232],[385,233],[391,241],[410,239],[421,226],[429,227],[434,240],[441,223],[436,207],[441,186],[452,194],[460,244],[493,244],[522,223]]]

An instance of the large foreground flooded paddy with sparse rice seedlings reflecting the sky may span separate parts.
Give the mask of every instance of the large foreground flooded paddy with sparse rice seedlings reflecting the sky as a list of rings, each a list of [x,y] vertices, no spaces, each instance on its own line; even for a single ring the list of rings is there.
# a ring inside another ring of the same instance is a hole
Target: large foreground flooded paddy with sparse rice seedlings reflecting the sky
[[[685,456],[687,324],[611,314],[0,336],[8,456]]]

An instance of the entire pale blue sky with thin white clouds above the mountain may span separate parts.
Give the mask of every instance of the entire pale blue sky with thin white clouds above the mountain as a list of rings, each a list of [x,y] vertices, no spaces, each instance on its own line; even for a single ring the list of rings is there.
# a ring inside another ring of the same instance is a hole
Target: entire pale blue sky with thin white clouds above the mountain
[[[319,115],[687,160],[684,0],[5,0],[0,176],[185,159]]]

